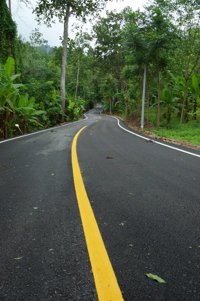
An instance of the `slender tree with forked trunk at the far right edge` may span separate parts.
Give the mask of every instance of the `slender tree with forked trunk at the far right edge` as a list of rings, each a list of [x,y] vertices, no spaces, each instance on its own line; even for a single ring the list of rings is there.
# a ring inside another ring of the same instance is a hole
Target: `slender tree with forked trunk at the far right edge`
[[[172,55],[176,61],[179,72],[184,78],[184,94],[180,125],[182,124],[184,107],[186,104],[187,115],[187,83],[199,64],[200,58],[200,4],[194,0],[176,0],[176,27]]]

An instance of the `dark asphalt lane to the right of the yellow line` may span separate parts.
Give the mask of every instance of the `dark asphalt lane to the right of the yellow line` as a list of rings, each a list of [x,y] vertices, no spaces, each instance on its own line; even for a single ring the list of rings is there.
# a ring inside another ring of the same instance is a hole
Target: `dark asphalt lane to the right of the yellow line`
[[[200,158],[145,142],[101,117],[82,131],[77,155],[124,300],[200,300]]]

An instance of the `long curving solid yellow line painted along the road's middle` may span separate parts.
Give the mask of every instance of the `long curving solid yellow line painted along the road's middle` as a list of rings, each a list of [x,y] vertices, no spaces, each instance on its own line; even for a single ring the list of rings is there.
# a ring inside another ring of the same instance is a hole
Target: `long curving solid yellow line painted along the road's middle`
[[[75,192],[80,211],[87,250],[99,301],[122,301],[123,297],[107,255],[100,231],[91,209],[76,154],[76,141],[82,127],[75,135],[71,148],[71,161]]]

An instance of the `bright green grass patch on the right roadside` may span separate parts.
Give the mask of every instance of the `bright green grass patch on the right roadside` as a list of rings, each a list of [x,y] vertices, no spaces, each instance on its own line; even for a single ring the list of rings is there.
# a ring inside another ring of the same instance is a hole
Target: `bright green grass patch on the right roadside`
[[[154,108],[149,111],[149,122],[156,124],[156,109]],[[179,123],[180,118],[177,117],[177,113],[173,113],[168,125],[166,119],[161,118],[160,127],[150,129],[150,131],[161,137],[184,140],[200,145],[200,111],[197,112],[196,120],[183,121],[181,126]]]

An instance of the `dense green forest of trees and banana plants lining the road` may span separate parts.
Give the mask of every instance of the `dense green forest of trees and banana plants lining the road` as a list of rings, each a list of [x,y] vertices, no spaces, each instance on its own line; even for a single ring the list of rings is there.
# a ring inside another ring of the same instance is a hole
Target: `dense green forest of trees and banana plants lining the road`
[[[142,11],[97,16],[105,4],[39,0],[38,23],[63,20],[62,46],[51,48],[38,29],[29,41],[17,36],[0,2],[0,138],[19,134],[15,124],[25,133],[78,119],[96,102],[106,113],[139,119],[145,83],[144,127],[200,145],[199,2],[153,0]],[[92,32],[70,39],[71,15],[93,18]]]

